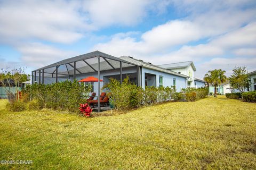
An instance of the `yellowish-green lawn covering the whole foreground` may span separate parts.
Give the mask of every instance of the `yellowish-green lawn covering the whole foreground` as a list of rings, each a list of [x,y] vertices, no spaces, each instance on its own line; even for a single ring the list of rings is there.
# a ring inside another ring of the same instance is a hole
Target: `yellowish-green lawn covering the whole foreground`
[[[205,98],[85,118],[7,112],[0,100],[0,169],[256,169],[256,104]]]

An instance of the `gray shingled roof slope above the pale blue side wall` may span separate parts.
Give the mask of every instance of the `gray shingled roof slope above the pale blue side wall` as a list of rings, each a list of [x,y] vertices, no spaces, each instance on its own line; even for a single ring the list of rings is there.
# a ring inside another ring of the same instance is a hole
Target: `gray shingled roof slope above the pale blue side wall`
[[[121,58],[122,60],[125,60],[127,62],[133,63],[135,65],[143,66],[143,67],[151,69],[151,70],[156,70],[156,71],[160,71],[160,72],[164,72],[164,73],[178,75],[179,77],[188,78],[187,75],[180,74],[180,73],[177,73],[177,72],[174,72],[174,71],[171,71],[171,70],[166,70],[166,69],[163,69],[162,67],[159,67],[157,65],[147,63],[147,62],[143,62],[142,60],[137,60],[137,59],[129,57],[129,56],[121,56],[119,58]]]

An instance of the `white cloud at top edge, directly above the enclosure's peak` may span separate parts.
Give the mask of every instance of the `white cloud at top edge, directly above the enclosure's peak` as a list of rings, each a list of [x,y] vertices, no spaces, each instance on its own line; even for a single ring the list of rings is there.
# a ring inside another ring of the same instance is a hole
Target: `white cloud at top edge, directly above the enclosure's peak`
[[[90,20],[97,27],[111,24],[133,25],[146,16],[146,6],[152,1],[84,1],[84,11],[89,13]]]

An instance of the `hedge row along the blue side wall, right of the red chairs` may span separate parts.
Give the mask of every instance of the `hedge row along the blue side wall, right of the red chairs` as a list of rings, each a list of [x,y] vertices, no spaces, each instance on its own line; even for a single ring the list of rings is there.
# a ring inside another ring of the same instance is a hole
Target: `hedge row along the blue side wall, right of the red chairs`
[[[110,79],[107,85],[109,90],[110,105],[117,110],[134,107],[148,106],[166,101],[195,101],[208,95],[207,88],[189,88],[176,92],[172,87],[146,87],[145,90],[131,84],[129,79],[124,79],[121,84],[115,79]]]

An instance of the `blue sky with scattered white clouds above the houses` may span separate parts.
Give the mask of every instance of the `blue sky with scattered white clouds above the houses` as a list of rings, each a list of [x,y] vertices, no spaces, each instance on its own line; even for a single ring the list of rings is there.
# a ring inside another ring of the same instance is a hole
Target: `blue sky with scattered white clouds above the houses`
[[[255,0],[0,0],[0,68],[39,67],[99,50],[155,65],[256,70]]]

